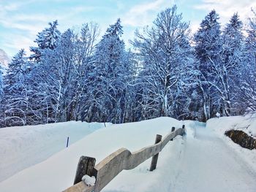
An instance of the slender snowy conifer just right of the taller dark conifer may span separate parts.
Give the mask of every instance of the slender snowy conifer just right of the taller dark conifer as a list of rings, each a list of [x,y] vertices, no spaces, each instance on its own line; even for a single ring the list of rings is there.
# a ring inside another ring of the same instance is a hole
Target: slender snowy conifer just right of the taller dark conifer
[[[235,13],[230,18],[222,34],[221,62],[217,65],[216,75],[219,78],[214,85],[219,92],[222,116],[231,115],[233,103],[237,100],[238,76],[243,59],[244,36],[242,34],[243,23]],[[234,109],[235,110],[235,109]]]

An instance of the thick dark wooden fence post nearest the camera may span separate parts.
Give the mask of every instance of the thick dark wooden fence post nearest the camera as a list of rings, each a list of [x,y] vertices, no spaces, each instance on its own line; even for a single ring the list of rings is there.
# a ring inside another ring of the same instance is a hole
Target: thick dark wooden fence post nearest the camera
[[[81,156],[78,161],[78,168],[75,173],[74,185],[82,181],[82,177],[85,174],[92,176],[96,159],[86,156]]]

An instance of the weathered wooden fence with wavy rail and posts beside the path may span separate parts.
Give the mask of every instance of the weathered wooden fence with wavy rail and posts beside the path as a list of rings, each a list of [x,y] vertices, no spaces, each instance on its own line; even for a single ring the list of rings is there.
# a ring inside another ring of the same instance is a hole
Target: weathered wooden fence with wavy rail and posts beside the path
[[[164,139],[162,139],[162,136],[157,135],[156,144],[143,147],[133,153],[125,148],[121,148],[108,155],[108,157],[100,161],[96,166],[95,158],[82,156],[78,162],[74,185],[63,192],[99,192],[122,170],[134,169],[151,157],[153,158],[150,171],[153,171],[157,166],[158,153],[165,147],[167,142],[173,140],[177,135],[182,136],[184,132],[185,126],[178,128],[176,131],[173,127],[170,134],[167,134]],[[82,180],[83,175],[86,174],[96,178],[96,183],[94,185],[86,185]]]

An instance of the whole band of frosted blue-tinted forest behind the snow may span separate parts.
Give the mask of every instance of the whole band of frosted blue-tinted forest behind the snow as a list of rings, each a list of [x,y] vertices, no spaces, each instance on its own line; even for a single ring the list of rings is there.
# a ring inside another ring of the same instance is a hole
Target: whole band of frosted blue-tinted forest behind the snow
[[[161,116],[206,121],[256,110],[256,12],[221,27],[215,10],[195,34],[167,8],[152,27],[121,39],[121,20],[101,39],[96,23],[79,34],[58,22],[0,68],[0,127],[69,120],[126,123]]]

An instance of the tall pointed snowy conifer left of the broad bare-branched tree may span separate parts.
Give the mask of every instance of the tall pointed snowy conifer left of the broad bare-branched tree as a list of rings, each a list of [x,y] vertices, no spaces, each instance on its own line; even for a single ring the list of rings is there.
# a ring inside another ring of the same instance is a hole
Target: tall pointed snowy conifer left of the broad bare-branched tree
[[[121,34],[121,20],[118,19],[110,25],[96,47],[95,69],[91,73],[91,78],[95,78],[91,107],[96,120],[120,123],[123,119],[124,90],[131,70]]]

